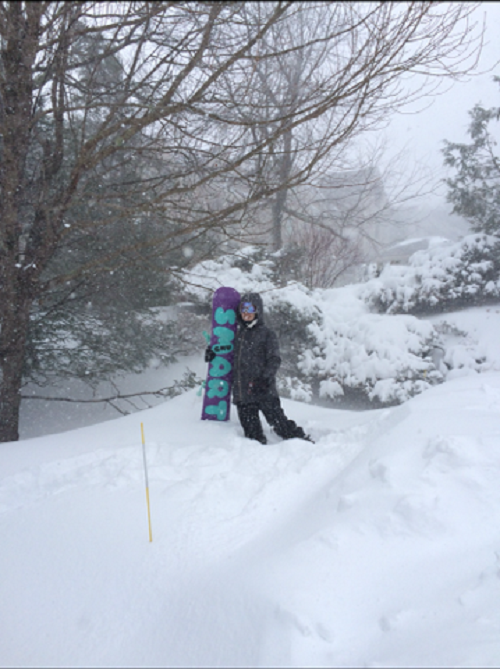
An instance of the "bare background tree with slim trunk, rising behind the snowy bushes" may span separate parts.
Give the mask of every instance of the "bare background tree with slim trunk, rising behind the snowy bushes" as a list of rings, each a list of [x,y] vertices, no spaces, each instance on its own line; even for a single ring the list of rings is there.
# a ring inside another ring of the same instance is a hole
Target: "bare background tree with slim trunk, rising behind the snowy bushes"
[[[248,5],[248,16],[257,16],[258,6]],[[401,72],[429,75],[421,81],[417,95],[433,90],[436,44],[427,42],[425,30],[434,33],[437,29],[447,56],[459,42],[455,56],[466,46],[467,40],[456,41],[458,14],[434,13],[436,9],[430,3],[386,3],[382,8],[343,2],[332,3],[325,13],[322,3],[297,2],[288,20],[273,25],[259,44],[250,77],[253,96],[247,105],[236,107],[236,114],[259,119],[252,132],[261,140],[269,136],[276,110],[280,110],[278,122],[286,126],[277,141],[264,146],[255,159],[261,180],[280,186],[266,201],[267,211],[261,213],[260,228],[263,220],[274,251],[284,243],[285,223],[294,220],[297,207],[290,203],[294,189],[305,184],[321,188],[322,176],[338,176],[352,141],[364,130],[386,123],[390,111],[411,98],[401,85]],[[462,19],[467,17],[462,13]],[[461,55],[466,53],[467,48]],[[454,74],[459,71],[460,67],[453,70]],[[451,74],[449,69],[447,74]],[[328,91],[327,108],[295,125],[300,110],[317,99],[319,81],[322,90]],[[361,168],[358,165],[354,187],[367,192],[372,179],[359,183]],[[372,165],[369,172],[373,172]],[[356,209],[359,218],[359,203]]]

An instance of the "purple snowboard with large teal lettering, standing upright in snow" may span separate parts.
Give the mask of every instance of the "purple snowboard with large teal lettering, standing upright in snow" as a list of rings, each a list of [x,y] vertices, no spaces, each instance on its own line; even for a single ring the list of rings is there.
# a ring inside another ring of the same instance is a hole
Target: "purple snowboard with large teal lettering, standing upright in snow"
[[[216,356],[208,365],[202,420],[229,420],[239,303],[240,294],[234,288],[218,288],[214,293],[210,347]]]

